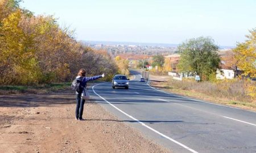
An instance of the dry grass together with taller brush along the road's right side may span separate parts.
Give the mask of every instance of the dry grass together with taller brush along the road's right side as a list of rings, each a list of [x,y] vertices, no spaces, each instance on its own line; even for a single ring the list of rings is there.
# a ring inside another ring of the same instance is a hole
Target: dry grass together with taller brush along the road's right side
[[[255,98],[247,95],[247,86],[256,85],[246,80],[218,80],[216,82],[196,82],[194,80],[169,80],[152,82],[158,88],[166,89],[194,98],[200,98],[218,104],[232,105],[244,109],[256,110]]]

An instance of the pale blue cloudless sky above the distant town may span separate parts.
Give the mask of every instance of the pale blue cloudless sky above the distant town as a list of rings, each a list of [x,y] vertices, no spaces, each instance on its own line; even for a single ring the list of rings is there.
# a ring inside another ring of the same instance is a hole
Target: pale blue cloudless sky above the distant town
[[[236,46],[256,28],[255,0],[24,0],[35,15],[54,15],[77,40],[172,43],[211,36]]]

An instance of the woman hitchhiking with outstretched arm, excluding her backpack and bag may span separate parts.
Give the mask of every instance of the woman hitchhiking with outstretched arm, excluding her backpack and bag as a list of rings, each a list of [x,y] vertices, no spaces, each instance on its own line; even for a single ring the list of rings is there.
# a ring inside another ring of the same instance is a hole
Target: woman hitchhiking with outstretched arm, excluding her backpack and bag
[[[80,69],[79,73],[77,74],[76,79],[80,79],[81,80],[81,85],[84,86],[86,88],[86,83],[87,81],[92,81],[92,80],[96,80],[98,78],[104,77],[104,73],[103,75],[99,75],[99,76],[93,76],[93,77],[85,77],[86,75],[86,71],[85,69]],[[81,94],[82,93],[78,93],[76,92],[76,119],[79,121],[85,120],[82,118],[82,111],[84,111],[84,102],[85,100],[81,98]]]

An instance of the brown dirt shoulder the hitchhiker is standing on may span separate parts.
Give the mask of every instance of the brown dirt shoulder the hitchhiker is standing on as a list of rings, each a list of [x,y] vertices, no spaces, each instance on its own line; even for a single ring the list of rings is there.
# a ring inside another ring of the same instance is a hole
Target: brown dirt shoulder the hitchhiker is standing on
[[[0,152],[170,152],[93,101],[75,120],[70,91],[0,96]]]

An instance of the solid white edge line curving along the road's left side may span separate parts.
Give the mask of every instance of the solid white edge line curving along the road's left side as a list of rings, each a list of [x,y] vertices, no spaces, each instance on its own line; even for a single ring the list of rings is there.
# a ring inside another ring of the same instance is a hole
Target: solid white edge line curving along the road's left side
[[[103,84],[104,84],[104,83],[103,83]],[[97,84],[97,85],[100,85],[100,84]],[[94,85],[94,86],[97,86],[97,85]],[[189,147],[185,146],[184,144],[182,144],[182,143],[180,143],[180,142],[177,142],[175,139],[172,139],[172,138],[168,137],[167,135],[164,135],[164,134],[160,133],[159,131],[156,131],[155,129],[153,129],[153,128],[150,127],[150,126],[147,126],[145,123],[139,121],[138,119],[136,119],[136,118],[132,117],[131,115],[125,113],[125,111],[122,111],[121,109],[119,109],[117,106],[111,104],[111,102],[105,100],[105,98],[101,97],[99,94],[97,94],[97,93],[94,91],[94,86],[92,87],[93,92],[94,92],[98,97],[100,97],[102,100],[104,100],[105,102],[107,102],[109,105],[113,106],[115,109],[117,109],[117,110],[120,111],[121,113],[125,114],[127,117],[130,117],[130,118],[133,119],[134,121],[136,121],[136,122],[138,122],[138,123],[141,123],[142,126],[147,127],[147,129],[150,129],[150,130],[154,131],[155,133],[161,135],[162,137],[164,137],[164,138],[166,138],[166,139],[168,139],[168,140],[171,140],[172,142],[174,142],[174,143],[176,143],[176,144],[179,144],[181,147],[183,147],[183,148],[185,148],[185,149],[187,149],[187,150],[189,150],[189,151],[191,151],[191,152],[193,152],[193,153],[198,153],[197,151],[193,150],[192,148],[189,148]]]

